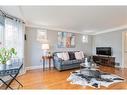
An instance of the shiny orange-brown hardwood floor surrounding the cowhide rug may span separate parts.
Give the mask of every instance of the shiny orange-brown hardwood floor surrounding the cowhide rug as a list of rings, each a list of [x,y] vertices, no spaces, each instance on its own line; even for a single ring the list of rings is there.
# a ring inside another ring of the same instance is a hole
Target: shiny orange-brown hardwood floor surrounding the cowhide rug
[[[20,89],[94,89],[92,87],[83,87],[80,85],[70,84],[66,79],[69,77],[70,72],[73,70],[66,70],[59,72],[57,70],[45,70],[36,69],[27,71],[26,74],[19,76],[18,80],[24,85]],[[100,67],[101,71],[113,73],[127,79],[127,69],[115,69],[111,67]],[[17,86],[17,83],[12,84],[13,87]],[[127,81],[122,83],[115,83],[110,85],[108,88],[101,87],[98,89],[127,89]]]

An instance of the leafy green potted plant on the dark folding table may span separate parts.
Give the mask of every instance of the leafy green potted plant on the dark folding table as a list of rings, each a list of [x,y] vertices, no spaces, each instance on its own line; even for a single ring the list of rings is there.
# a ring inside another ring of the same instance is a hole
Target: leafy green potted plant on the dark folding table
[[[13,56],[15,56],[17,52],[14,48],[6,49],[1,48],[0,49],[0,69],[5,69],[7,61],[9,61]]]

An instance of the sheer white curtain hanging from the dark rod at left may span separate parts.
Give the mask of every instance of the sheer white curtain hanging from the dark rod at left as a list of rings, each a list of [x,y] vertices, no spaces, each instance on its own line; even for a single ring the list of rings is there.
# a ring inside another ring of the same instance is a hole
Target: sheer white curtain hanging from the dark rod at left
[[[24,32],[25,25],[17,19],[5,18],[5,47],[15,48],[17,57],[24,59]]]

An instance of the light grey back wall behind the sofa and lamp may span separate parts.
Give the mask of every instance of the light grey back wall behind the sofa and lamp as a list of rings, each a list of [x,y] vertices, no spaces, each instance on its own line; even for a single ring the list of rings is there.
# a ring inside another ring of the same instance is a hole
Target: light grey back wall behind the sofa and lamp
[[[92,36],[88,37],[88,43],[82,43],[82,34],[76,33],[76,47],[75,48],[57,48],[57,33],[58,31],[47,31],[49,43],[51,45],[51,52],[54,51],[70,51],[81,50],[87,55],[92,54]],[[40,59],[42,56],[41,44],[36,40],[37,28],[26,27],[26,67],[42,65]]]

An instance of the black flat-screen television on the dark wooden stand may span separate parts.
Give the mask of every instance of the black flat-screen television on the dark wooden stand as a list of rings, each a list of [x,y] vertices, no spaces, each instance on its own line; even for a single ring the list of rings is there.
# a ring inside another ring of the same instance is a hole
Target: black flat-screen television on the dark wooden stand
[[[96,54],[111,56],[111,47],[96,47]]]

